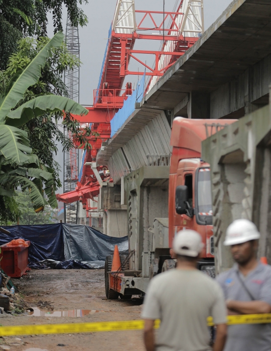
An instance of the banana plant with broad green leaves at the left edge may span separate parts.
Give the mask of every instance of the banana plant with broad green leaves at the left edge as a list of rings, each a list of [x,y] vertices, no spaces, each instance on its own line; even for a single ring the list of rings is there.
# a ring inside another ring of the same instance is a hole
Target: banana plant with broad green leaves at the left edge
[[[53,170],[32,154],[28,134],[20,127],[46,112],[79,115],[88,112],[77,102],[53,94],[35,97],[18,106],[25,91],[39,80],[51,49],[59,47],[63,38],[63,33],[58,32],[24,70],[17,72],[5,94],[0,96],[0,195],[12,196],[18,186],[23,190],[28,188],[36,212],[43,210],[47,203],[57,207],[56,179]]]

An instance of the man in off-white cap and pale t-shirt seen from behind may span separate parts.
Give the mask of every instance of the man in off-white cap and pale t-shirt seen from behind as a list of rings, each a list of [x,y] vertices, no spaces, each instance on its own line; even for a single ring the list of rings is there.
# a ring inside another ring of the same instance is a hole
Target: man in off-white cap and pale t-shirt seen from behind
[[[173,243],[176,269],[151,280],[142,312],[147,351],[223,350],[227,332],[225,301],[219,284],[197,270],[203,246],[196,231],[179,231]],[[213,317],[217,326],[213,348],[206,323],[208,316]],[[156,319],[161,324],[155,336]]]

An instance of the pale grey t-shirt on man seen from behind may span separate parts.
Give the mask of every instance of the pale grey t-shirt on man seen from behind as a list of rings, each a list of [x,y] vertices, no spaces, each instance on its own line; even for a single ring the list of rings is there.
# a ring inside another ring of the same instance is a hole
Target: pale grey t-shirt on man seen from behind
[[[157,351],[209,350],[208,316],[215,324],[226,322],[223,292],[204,273],[173,269],[151,280],[142,317],[161,319]]]

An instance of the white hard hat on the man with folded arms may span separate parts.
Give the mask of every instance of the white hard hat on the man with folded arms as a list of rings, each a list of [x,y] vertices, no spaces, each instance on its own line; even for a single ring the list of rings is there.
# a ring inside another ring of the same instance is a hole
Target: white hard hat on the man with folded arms
[[[260,233],[254,223],[248,219],[234,220],[226,230],[225,246],[237,245],[257,240],[260,238]]]

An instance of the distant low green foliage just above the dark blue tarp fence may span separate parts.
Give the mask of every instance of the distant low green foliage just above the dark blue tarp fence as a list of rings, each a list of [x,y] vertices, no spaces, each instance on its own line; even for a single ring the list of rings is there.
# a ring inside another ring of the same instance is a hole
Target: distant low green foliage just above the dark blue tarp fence
[[[52,207],[46,205],[43,212],[36,213],[33,209],[33,204],[29,191],[17,191],[15,196],[19,210],[19,224],[34,225],[34,224],[51,224],[55,223],[57,219],[57,210],[53,210]],[[13,224],[17,224],[17,219],[13,221]]]

